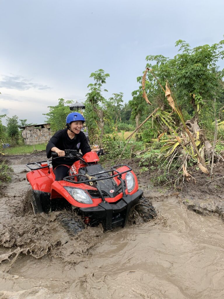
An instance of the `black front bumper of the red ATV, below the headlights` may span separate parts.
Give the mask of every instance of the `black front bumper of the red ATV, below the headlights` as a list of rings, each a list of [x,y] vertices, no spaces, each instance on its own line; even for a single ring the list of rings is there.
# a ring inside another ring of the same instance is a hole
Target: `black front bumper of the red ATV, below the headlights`
[[[131,208],[139,202],[142,194],[143,191],[138,190],[132,195],[123,196],[117,203],[101,202],[97,207],[79,208],[79,210],[94,222],[102,222],[105,231],[117,226],[124,227]]]

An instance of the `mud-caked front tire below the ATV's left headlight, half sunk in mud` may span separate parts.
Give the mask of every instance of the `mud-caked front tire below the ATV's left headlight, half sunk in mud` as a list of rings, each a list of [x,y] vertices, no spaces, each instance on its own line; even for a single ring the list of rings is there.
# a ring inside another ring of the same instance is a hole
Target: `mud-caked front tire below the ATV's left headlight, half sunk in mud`
[[[61,223],[68,234],[75,236],[85,228],[84,222],[75,213],[65,211],[57,215],[57,220]]]

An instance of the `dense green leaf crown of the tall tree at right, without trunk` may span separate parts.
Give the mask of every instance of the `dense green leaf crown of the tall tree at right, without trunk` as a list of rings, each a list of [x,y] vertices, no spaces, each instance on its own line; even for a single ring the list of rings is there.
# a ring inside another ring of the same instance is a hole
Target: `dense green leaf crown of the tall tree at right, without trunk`
[[[203,45],[193,49],[185,41],[178,40],[179,54],[174,58],[167,58],[162,55],[149,55],[146,57],[147,64],[152,69],[159,82],[165,87],[168,80],[172,92],[181,109],[185,109],[193,115],[199,107],[207,106],[213,100],[214,94],[219,99],[223,92],[222,78],[224,70],[214,72],[214,67],[219,59],[224,58],[224,40],[214,45]],[[164,93],[159,83],[151,72],[147,73],[149,82],[149,100],[153,100],[160,94],[164,98]],[[165,102],[165,101],[164,101]],[[167,101],[165,102],[167,105]]]

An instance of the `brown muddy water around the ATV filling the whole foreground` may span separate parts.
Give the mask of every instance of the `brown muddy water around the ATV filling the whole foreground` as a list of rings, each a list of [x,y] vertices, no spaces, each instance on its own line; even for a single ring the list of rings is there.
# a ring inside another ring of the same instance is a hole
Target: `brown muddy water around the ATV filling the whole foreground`
[[[224,298],[218,214],[194,213],[139,176],[157,219],[107,233],[88,228],[72,238],[55,213],[28,212],[25,162],[11,160],[13,181],[0,199],[0,298]]]

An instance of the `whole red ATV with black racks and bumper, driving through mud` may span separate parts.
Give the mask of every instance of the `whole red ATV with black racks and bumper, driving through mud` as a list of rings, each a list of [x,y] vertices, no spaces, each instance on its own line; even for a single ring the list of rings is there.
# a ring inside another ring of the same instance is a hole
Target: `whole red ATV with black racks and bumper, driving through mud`
[[[133,207],[143,221],[152,219],[156,211],[151,201],[142,196],[131,167],[119,164],[105,170],[98,164],[102,154],[100,150],[98,154],[88,152],[82,156],[76,150],[65,150],[66,157],[78,161],[73,163],[69,176],[63,181],[55,181],[49,161],[26,164],[31,170],[27,180],[33,189],[30,210],[35,214],[68,210],[67,217],[59,214],[59,218],[72,234],[85,228],[85,224],[102,223],[105,231],[124,227]],[[57,158],[58,155],[52,153],[52,159]]]

